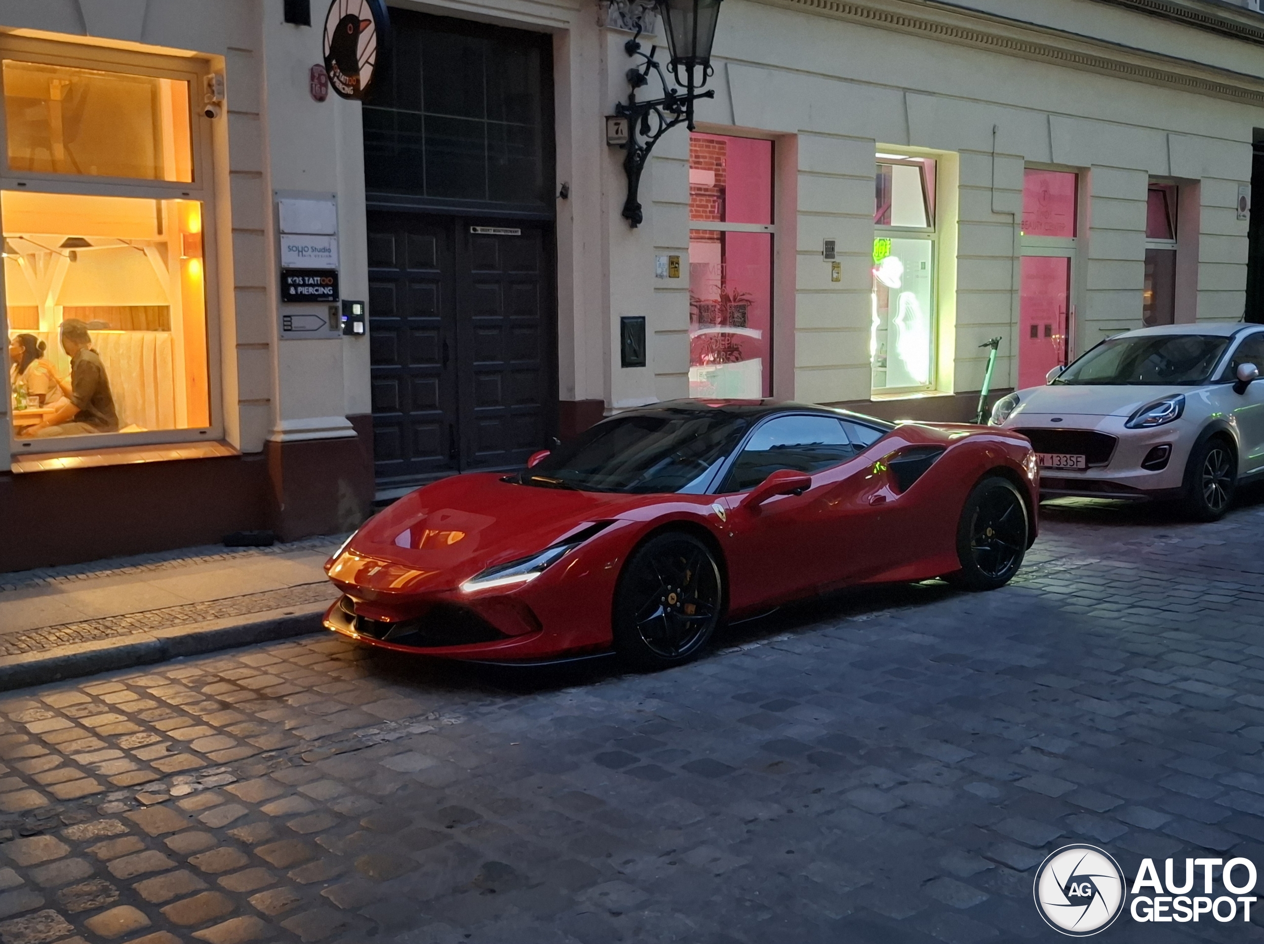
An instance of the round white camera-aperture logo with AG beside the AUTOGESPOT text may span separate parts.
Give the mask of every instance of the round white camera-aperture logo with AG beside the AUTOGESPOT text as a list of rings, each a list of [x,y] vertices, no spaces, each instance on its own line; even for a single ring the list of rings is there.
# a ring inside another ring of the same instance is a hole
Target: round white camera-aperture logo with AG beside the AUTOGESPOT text
[[[1040,917],[1073,938],[1097,934],[1124,910],[1124,873],[1096,845],[1064,845],[1050,853],[1034,885]]]

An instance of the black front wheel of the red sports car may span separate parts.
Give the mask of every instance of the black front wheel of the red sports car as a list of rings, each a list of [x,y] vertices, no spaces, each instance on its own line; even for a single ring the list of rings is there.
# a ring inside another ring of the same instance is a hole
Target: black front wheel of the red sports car
[[[689,662],[723,618],[724,580],[712,549],[685,531],[650,538],[614,590],[614,649],[638,668]]]

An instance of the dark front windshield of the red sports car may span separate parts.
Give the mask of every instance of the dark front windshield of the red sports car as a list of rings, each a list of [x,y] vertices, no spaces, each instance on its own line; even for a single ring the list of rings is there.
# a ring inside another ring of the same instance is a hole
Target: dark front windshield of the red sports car
[[[557,447],[517,481],[600,492],[702,492],[748,425],[722,413],[617,416]]]

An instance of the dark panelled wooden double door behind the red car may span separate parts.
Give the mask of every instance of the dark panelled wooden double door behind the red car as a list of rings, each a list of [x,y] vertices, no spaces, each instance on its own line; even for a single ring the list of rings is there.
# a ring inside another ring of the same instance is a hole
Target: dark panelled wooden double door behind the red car
[[[521,466],[556,413],[552,228],[370,211],[378,487]]]

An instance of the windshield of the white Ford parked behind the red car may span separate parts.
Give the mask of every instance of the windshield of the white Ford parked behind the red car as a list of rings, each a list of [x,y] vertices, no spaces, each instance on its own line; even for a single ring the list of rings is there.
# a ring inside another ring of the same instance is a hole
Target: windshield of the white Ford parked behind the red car
[[[1105,340],[1054,383],[1206,383],[1229,338],[1215,334],[1141,334]]]

